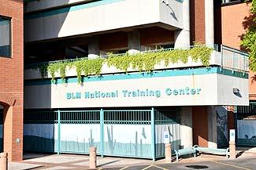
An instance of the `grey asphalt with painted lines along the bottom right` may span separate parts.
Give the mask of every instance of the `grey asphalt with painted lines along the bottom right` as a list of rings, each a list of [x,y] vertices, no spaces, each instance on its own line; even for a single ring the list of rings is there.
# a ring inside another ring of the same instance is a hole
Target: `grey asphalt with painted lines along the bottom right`
[[[217,170],[256,170],[256,157],[228,161],[206,161],[197,163],[172,163],[157,165],[124,166],[119,168],[99,168],[100,170],[189,170],[189,169],[217,169]]]

